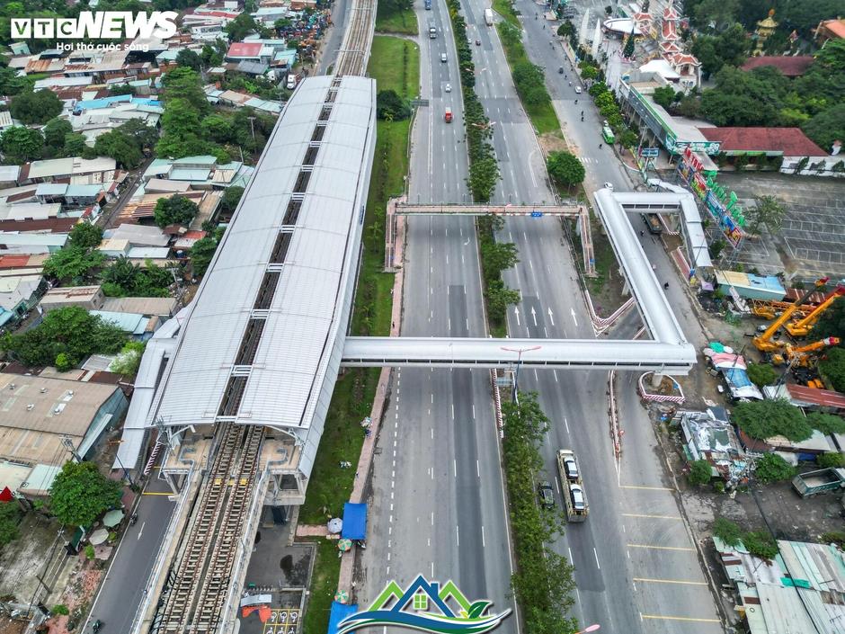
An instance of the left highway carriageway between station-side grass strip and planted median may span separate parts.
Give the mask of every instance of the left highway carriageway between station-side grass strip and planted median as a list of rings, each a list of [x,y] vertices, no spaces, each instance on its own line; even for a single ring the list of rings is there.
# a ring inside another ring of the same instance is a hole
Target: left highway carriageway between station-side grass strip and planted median
[[[422,4],[422,3],[421,3]],[[468,201],[457,55],[445,3],[418,7],[421,97],[408,196]],[[428,21],[437,38],[427,35]],[[441,61],[446,54],[447,61]],[[449,85],[450,91],[446,90]],[[453,121],[444,121],[445,109]],[[407,227],[403,335],[485,336],[473,219],[413,218]],[[497,430],[486,371],[396,371],[373,470],[373,534],[363,562],[367,604],[395,579],[452,579],[494,610],[512,607]],[[515,619],[500,630],[516,631]]]

